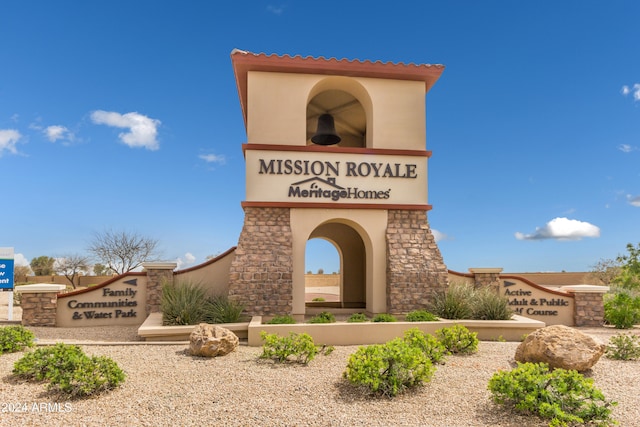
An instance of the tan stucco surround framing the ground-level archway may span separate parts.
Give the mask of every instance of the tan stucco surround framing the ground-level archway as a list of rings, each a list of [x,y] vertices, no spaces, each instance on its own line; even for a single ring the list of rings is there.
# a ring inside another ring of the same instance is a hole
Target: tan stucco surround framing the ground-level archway
[[[367,311],[386,311],[386,210],[291,209],[293,235],[293,313],[305,313],[305,249],[314,230],[338,222],[358,232],[365,246],[365,299]],[[344,268],[341,267],[344,272]]]

